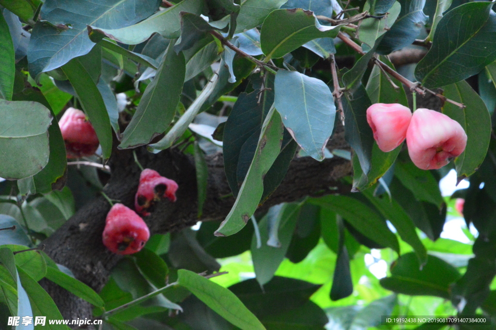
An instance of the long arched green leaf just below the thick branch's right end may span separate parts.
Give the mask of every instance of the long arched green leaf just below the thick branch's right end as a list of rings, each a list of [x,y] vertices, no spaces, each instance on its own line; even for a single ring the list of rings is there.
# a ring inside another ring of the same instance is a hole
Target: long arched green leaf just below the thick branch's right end
[[[399,253],[396,236],[389,230],[382,218],[361,201],[348,196],[326,196],[312,198],[310,202],[332,209],[363,235]]]

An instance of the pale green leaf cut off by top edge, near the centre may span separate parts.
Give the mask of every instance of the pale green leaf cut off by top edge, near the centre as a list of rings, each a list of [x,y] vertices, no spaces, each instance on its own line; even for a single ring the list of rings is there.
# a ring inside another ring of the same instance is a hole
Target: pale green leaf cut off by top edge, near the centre
[[[267,15],[279,9],[285,0],[243,0],[237,18],[236,33],[250,30],[262,24]]]

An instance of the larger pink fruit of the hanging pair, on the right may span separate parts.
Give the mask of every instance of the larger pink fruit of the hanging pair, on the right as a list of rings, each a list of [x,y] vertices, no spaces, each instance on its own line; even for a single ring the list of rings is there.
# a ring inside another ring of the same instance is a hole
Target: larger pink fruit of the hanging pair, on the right
[[[467,134],[458,122],[429,109],[417,109],[406,132],[408,153],[423,170],[438,169],[458,157],[467,145]]]

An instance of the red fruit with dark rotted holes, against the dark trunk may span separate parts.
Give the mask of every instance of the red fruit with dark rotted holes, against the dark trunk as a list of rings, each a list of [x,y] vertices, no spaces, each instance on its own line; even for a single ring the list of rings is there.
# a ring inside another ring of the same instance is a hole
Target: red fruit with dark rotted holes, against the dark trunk
[[[134,197],[134,208],[143,216],[150,215],[155,202],[167,197],[176,201],[178,190],[176,181],[161,176],[157,171],[145,168],[139,177],[138,192]]]

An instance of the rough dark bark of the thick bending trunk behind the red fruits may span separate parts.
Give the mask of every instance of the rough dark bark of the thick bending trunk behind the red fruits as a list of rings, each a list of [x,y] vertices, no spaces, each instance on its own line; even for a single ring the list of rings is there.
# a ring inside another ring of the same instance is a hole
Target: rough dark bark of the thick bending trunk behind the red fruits
[[[348,149],[342,127],[337,129],[329,141],[330,149]],[[172,178],[179,184],[178,200],[172,203],[163,200],[152,215],[144,217],[151,234],[181,230],[198,221],[197,188],[194,162],[176,150],[158,154],[137,149],[143,167],[157,170],[161,175]],[[209,169],[207,199],[201,221],[222,220],[231,209],[234,198],[224,174],[222,154],[207,157]],[[140,170],[133,160],[132,151],[115,150],[109,162],[111,178],[104,188],[110,198],[120,200],[133,207]],[[349,187],[339,182],[351,174],[349,161],[334,157],[317,162],[310,157],[295,158],[288,173],[272,196],[261,206],[268,208],[283,201],[294,201],[305,196],[320,196],[344,192]],[[74,275],[97,292],[105,285],[113,266],[122,258],[109,252],[102,244],[105,217],[110,204],[103,197],[95,198],[46,239],[45,252],[59,264],[71,269]],[[65,319],[92,317],[92,307],[54,283],[45,280],[44,287],[54,298]]]

